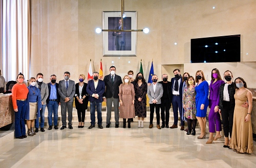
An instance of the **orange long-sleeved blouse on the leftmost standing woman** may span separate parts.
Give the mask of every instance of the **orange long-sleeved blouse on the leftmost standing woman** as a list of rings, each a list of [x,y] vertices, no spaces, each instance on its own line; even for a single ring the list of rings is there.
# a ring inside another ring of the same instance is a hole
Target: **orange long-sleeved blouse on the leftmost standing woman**
[[[17,106],[17,102],[16,100],[19,99],[27,99],[29,90],[26,87],[26,85],[23,83],[23,85],[19,85],[18,83],[16,83],[13,87],[12,87],[12,105],[13,105],[13,109],[18,108]]]

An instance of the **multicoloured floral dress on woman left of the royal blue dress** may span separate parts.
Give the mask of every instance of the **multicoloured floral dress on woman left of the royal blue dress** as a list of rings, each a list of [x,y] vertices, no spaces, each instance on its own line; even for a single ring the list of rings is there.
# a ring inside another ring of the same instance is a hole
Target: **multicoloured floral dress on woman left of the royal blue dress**
[[[185,104],[184,117],[190,120],[196,120],[197,108],[196,108],[196,90],[195,86],[191,90],[185,87],[183,90],[182,104]]]

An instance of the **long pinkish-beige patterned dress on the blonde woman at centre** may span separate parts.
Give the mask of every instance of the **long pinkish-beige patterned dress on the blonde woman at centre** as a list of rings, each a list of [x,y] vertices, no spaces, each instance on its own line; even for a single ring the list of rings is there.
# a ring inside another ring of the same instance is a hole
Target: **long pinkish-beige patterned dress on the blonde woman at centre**
[[[119,99],[122,100],[123,105],[120,104],[119,117],[123,119],[131,119],[135,117],[135,108],[132,101],[134,100],[134,86],[121,84],[119,87]]]

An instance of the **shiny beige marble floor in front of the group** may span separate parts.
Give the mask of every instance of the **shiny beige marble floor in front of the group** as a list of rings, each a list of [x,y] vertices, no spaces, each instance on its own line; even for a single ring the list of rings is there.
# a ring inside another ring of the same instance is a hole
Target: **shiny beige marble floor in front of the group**
[[[0,167],[256,167],[254,154],[223,148],[223,138],[207,145],[199,129],[87,128],[14,139],[1,146]]]

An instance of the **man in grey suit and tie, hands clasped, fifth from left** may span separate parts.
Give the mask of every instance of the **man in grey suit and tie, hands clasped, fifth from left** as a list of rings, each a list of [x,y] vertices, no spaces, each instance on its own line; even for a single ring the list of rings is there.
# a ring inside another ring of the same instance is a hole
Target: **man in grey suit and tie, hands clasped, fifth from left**
[[[58,92],[60,97],[60,108],[61,108],[61,122],[62,127],[67,128],[67,109],[68,109],[68,120],[69,120],[69,129],[73,129],[72,127],[72,111],[73,111],[73,102],[75,95],[75,81],[70,80],[70,73],[64,72],[63,80],[59,81]]]

